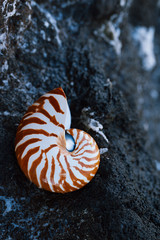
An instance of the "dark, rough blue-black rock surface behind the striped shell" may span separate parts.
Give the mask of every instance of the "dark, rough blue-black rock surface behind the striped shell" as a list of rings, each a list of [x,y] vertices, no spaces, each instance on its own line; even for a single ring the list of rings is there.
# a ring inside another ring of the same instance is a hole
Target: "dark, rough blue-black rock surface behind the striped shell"
[[[160,3],[140,2],[0,1],[0,239],[160,239]],[[148,55],[139,26],[155,31]],[[65,195],[30,183],[14,154],[27,107],[59,86],[72,126],[108,147],[95,178]]]

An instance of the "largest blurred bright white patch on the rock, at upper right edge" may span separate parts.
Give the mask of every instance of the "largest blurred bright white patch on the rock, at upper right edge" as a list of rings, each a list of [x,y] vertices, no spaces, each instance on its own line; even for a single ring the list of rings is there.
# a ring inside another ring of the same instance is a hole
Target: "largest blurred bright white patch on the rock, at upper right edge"
[[[151,71],[156,65],[154,54],[154,27],[136,27],[133,30],[133,39],[139,44],[139,55],[144,70]]]

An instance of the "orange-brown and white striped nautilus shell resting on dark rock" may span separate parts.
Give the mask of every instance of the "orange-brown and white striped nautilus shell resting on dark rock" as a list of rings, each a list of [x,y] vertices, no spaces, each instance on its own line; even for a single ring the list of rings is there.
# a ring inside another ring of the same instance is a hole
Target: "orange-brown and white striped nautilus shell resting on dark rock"
[[[98,170],[96,142],[70,125],[66,95],[56,88],[33,103],[18,126],[15,152],[19,166],[39,188],[72,192],[85,186]]]

